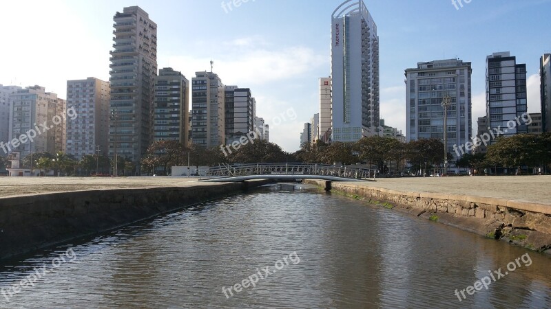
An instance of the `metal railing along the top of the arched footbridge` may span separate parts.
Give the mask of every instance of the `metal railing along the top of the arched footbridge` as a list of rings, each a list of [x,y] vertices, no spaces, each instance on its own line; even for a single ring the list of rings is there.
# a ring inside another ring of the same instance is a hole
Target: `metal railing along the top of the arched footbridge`
[[[256,163],[239,165],[220,165],[209,168],[207,178],[227,178],[263,174],[323,175],[347,179],[375,179],[378,171],[355,165],[335,166],[316,163]]]

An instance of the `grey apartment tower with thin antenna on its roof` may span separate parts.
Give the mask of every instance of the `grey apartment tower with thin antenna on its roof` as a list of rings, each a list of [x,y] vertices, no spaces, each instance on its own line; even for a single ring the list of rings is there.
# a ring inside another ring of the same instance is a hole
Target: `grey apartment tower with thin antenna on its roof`
[[[225,144],[225,86],[216,73],[191,79],[191,142],[203,147]]]

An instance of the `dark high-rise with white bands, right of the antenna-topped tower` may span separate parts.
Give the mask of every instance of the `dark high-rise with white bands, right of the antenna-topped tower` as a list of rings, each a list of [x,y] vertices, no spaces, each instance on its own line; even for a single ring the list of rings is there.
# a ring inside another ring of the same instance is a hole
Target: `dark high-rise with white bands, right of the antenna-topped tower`
[[[225,87],[225,139],[230,145],[254,130],[254,98],[251,89]]]

